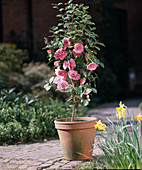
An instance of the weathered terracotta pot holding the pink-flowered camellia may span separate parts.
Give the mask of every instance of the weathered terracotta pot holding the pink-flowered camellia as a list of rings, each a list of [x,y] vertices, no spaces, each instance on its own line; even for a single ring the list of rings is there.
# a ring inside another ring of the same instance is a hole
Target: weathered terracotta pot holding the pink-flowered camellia
[[[92,157],[96,121],[97,118],[92,117],[76,117],[74,122],[70,118],[54,121],[65,159],[87,160]]]

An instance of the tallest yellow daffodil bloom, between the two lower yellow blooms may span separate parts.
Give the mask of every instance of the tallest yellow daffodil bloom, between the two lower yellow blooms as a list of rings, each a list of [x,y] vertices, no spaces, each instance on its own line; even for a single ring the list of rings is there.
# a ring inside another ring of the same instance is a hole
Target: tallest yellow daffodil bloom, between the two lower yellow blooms
[[[127,110],[127,106],[125,106],[124,104],[122,104],[122,101],[120,101],[119,103],[120,107],[116,107],[116,111],[117,111],[117,116],[120,119],[121,117],[125,118],[125,114],[126,114],[126,110]]]

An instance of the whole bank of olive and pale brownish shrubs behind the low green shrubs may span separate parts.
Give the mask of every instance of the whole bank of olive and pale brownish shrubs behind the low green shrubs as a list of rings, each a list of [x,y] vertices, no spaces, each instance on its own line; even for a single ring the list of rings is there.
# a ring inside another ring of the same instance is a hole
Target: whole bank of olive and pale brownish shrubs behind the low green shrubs
[[[0,43],[0,89],[16,87],[16,91],[24,94],[40,95],[46,98],[65,98],[55,91],[46,92],[45,81],[55,74],[47,63],[28,62],[26,50],[17,49],[15,44]]]

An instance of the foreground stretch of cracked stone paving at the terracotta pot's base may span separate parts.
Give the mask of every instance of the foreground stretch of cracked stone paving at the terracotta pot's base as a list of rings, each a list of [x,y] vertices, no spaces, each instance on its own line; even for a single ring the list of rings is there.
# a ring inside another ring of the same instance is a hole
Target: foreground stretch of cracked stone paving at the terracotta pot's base
[[[100,152],[96,149],[94,153],[97,155]],[[72,169],[74,165],[80,162],[83,163],[84,161],[68,161],[64,159],[59,140],[0,146],[0,170]]]

